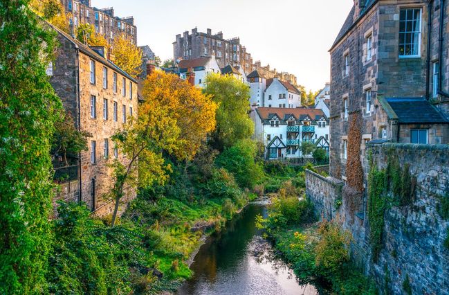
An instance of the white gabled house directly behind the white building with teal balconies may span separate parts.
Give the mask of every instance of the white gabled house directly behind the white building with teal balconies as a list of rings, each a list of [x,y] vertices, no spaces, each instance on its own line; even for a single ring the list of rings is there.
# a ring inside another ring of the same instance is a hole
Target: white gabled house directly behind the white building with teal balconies
[[[263,106],[287,109],[301,107],[301,92],[292,84],[278,78],[268,79]]]

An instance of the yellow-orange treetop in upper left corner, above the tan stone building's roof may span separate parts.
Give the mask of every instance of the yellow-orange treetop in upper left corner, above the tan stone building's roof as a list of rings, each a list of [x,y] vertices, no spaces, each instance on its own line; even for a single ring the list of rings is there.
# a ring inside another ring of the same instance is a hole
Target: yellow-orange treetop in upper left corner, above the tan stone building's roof
[[[61,1],[31,0],[29,7],[39,15],[39,17],[46,19],[50,24],[53,24],[53,26],[66,33],[70,33],[70,26],[68,24],[70,15],[65,12]]]

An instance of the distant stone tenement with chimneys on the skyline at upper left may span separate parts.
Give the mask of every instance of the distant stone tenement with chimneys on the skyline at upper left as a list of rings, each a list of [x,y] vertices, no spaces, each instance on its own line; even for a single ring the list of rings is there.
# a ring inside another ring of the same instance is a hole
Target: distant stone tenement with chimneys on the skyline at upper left
[[[91,0],[61,0],[69,19],[73,33],[80,24],[92,24],[96,33],[103,35],[109,44],[120,34],[137,44],[137,28],[134,17],[116,17],[112,7],[98,9],[91,6]]]

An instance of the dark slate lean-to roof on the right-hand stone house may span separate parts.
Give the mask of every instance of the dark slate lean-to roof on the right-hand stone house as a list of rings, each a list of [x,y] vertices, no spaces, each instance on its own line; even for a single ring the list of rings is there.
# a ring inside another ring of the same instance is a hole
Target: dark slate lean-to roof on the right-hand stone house
[[[385,98],[379,102],[388,116],[397,119],[399,124],[449,123],[425,98]]]

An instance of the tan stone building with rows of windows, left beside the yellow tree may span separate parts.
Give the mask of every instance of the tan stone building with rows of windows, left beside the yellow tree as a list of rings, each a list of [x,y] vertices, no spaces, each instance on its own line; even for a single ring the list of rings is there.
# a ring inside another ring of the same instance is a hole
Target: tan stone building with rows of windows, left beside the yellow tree
[[[89,48],[54,29],[61,46],[55,62],[48,67],[50,82],[77,129],[92,134],[89,150],[77,157],[75,179],[68,186],[63,184],[59,198],[85,202],[97,215],[107,215],[113,209],[105,198],[112,186],[108,164],[113,159],[127,161],[113,146],[111,136],[130,116],[137,116],[137,82],[108,60],[104,47]],[[136,192],[127,189],[124,200],[134,197]]]

